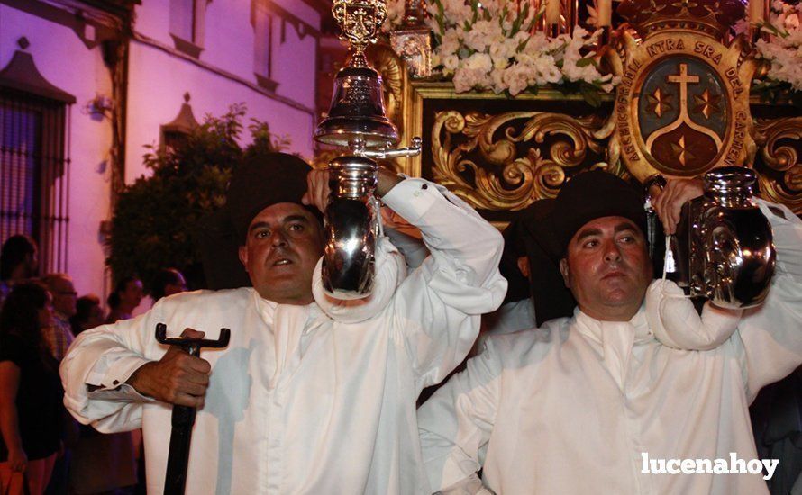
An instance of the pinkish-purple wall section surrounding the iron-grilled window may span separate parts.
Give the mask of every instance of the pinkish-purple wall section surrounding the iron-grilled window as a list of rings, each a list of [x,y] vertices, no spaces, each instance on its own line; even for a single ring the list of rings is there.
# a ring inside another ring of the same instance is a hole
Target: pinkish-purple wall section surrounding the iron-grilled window
[[[41,75],[73,94],[69,130],[71,146],[67,271],[80,294],[105,290],[105,254],[99,235],[108,217],[111,124],[82,112],[96,93],[111,95],[111,76],[99,47],[87,49],[75,31],[0,4],[0,67],[5,67],[24,36]]]

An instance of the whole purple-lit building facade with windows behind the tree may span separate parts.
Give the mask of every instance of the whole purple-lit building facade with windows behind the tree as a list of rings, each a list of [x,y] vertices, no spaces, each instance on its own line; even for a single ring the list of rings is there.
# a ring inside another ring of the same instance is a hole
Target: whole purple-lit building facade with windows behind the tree
[[[312,157],[324,0],[0,0],[0,241],[105,295],[115,194],[148,145],[244,103]],[[243,139],[248,139],[244,136]],[[243,143],[244,144],[244,143]]]

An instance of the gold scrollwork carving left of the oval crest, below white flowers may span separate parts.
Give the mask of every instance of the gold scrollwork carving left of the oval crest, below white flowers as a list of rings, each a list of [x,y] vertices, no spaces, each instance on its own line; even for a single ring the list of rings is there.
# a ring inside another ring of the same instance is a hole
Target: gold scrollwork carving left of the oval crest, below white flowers
[[[516,121],[523,124],[515,125]],[[437,112],[432,129],[433,177],[476,208],[522,210],[537,199],[556,196],[566,169],[585,162],[588,150],[604,152],[597,138],[602,127],[593,116],[562,113]],[[453,139],[456,136],[467,139]],[[547,136],[557,139],[544,156],[543,147],[537,145]],[[531,145],[523,156],[518,154],[520,143]],[[472,181],[466,178],[468,170]]]

